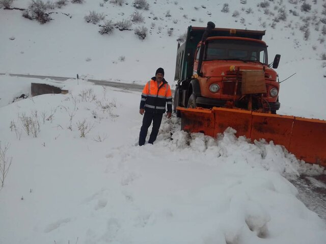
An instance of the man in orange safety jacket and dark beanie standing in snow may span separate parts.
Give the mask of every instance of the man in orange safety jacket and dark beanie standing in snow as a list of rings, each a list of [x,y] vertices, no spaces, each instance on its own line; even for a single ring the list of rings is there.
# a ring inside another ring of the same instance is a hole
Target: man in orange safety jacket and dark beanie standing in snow
[[[166,103],[168,107],[168,118],[172,114],[172,93],[169,84],[164,78],[164,69],[158,68],[155,76],[145,85],[139,113],[143,115],[143,125],[139,133],[139,145],[145,144],[148,127],[153,121],[152,132],[148,143],[153,144],[156,140],[162,116],[165,113]]]

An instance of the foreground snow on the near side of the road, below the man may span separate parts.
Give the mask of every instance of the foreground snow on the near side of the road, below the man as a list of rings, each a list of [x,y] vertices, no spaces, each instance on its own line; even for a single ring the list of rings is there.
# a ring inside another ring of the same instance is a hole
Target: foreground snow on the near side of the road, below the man
[[[0,108],[14,158],[1,243],[323,243],[326,224],[284,178],[322,168],[231,128],[189,135],[176,117],[164,117],[154,145],[135,146],[139,93],[76,80],[64,89]],[[33,138],[20,118],[35,111]],[[92,129],[80,138],[83,120]]]

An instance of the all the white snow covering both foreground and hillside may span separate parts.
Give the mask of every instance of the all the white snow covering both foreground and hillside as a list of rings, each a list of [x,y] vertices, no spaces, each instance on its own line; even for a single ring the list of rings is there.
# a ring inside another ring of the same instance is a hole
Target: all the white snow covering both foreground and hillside
[[[56,11],[72,18],[52,14],[43,25],[21,17],[19,10],[0,9],[0,73],[78,73],[145,84],[161,66],[173,85],[175,39],[187,25],[214,20],[226,28],[263,29],[260,1],[229,1],[229,13],[215,1],[148,2],[149,10],[141,12],[148,29],[151,22],[155,27],[144,41],[133,31],[101,36],[98,26],[84,20],[93,10],[115,20],[128,18],[131,1],[122,7],[69,3]],[[314,15],[322,18],[322,4],[317,1],[305,13],[301,2],[270,2],[269,10],[277,14],[276,5],[287,11],[296,6],[300,17],[307,17],[316,9],[319,15]],[[16,0],[13,6],[26,8],[28,1]],[[249,8],[254,13],[247,14]],[[165,17],[168,10],[171,17]],[[320,60],[325,46],[318,41],[322,23],[319,32],[311,26],[304,41],[296,24],[300,17],[288,14],[276,29],[270,26],[273,16],[265,20],[270,57],[282,55],[280,80],[296,72],[281,84],[280,113],[326,119]],[[285,27],[289,23],[293,29]],[[69,94],[12,103],[30,93],[31,82],[40,80],[0,75],[0,141],[2,149],[8,145],[6,158],[12,157],[0,190],[0,243],[324,243],[325,222],[298,199],[289,181],[320,175],[322,168],[297,161],[279,145],[236,138],[232,129],[216,140],[187,134],[175,116],[164,117],[154,145],[139,147],[140,92],[70,79],[60,84]],[[29,134],[24,121],[35,125]],[[82,125],[85,137],[80,137]],[[323,189],[320,181],[309,179]]]

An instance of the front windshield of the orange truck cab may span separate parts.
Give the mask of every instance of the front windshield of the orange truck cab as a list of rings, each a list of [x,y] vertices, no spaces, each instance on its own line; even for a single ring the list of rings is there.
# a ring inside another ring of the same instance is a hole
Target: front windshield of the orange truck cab
[[[267,46],[254,41],[211,40],[206,43],[203,60],[242,60],[268,64]]]

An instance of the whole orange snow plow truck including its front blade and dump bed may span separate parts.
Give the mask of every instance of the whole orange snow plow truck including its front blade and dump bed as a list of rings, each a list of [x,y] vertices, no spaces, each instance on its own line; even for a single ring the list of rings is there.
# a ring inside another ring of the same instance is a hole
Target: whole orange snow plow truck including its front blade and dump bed
[[[236,135],[285,146],[298,159],[326,167],[326,121],[278,115],[280,55],[268,64],[265,31],[189,26],[178,43],[174,112],[181,129],[211,137]]]

